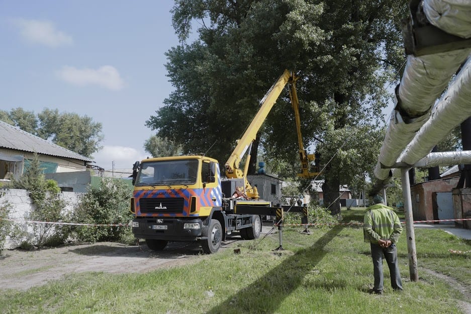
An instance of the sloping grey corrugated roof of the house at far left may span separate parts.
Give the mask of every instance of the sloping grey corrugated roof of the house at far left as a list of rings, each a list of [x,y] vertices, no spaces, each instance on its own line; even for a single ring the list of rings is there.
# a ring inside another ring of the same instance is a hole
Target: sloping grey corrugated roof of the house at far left
[[[88,162],[93,161],[3,121],[0,121],[0,147]]]

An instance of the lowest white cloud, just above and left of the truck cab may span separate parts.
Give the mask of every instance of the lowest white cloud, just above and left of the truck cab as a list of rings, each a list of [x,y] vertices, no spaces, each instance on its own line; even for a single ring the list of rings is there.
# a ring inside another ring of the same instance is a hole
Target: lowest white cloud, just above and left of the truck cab
[[[145,153],[132,147],[123,146],[104,146],[103,149],[93,154],[95,165],[105,168],[105,170],[114,169],[132,169],[136,160],[141,161],[146,158]]]

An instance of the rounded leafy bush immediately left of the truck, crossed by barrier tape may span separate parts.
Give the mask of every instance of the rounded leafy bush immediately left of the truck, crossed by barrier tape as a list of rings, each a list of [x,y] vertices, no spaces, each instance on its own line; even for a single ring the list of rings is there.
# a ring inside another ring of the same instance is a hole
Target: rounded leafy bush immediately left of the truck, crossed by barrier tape
[[[127,224],[132,189],[120,179],[104,178],[98,187],[91,186],[82,196],[72,220],[83,224]],[[129,236],[130,228],[76,226],[73,233],[78,241],[118,241]]]

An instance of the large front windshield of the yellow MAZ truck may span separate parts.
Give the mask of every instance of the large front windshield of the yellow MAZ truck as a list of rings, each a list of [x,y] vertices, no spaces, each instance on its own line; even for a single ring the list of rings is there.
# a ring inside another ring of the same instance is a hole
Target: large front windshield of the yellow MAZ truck
[[[195,184],[197,173],[197,159],[143,162],[135,185]]]

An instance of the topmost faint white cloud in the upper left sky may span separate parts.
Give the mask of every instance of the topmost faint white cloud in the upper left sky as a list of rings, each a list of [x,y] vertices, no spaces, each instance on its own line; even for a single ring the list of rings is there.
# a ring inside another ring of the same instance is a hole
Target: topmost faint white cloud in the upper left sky
[[[21,36],[30,43],[58,47],[72,45],[72,37],[57,30],[50,21],[16,19]]]

